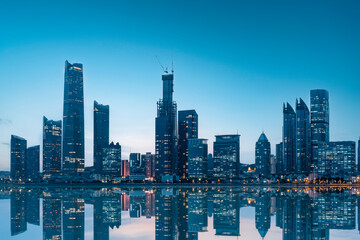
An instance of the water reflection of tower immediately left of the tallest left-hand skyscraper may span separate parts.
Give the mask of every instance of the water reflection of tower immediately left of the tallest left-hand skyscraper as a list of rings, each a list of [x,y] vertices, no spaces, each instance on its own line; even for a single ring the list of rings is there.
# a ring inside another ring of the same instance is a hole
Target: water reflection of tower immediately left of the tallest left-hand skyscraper
[[[61,240],[61,199],[45,194],[43,198],[43,239]]]

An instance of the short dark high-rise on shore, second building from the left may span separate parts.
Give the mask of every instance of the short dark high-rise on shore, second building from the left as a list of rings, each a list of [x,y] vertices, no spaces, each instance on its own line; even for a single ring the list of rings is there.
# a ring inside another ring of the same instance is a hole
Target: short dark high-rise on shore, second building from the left
[[[40,178],[40,146],[26,150],[26,181],[37,182]]]

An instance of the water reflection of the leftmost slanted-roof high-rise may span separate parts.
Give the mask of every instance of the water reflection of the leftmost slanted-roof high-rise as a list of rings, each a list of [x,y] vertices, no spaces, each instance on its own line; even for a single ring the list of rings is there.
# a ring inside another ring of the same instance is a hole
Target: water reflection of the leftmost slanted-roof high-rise
[[[26,192],[24,188],[14,188],[10,193],[11,236],[23,233],[26,225]]]

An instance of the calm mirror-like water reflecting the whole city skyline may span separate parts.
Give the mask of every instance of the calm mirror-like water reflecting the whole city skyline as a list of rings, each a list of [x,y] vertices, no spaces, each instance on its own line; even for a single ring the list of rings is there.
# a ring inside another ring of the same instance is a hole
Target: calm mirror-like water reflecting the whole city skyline
[[[0,188],[0,239],[360,239],[360,189]]]

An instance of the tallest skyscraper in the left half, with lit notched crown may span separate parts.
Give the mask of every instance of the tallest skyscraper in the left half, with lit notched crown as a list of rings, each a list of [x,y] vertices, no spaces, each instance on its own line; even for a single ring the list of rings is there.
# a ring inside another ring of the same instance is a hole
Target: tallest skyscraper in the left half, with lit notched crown
[[[62,171],[84,171],[84,90],[83,66],[65,62]]]

